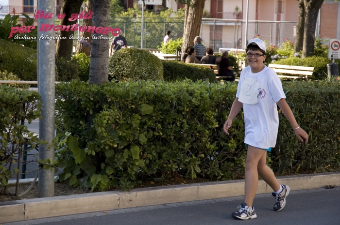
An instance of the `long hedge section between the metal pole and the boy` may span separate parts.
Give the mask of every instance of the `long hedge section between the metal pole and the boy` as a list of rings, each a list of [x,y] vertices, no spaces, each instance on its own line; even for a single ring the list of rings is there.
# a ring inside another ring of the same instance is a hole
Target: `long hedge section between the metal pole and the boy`
[[[106,190],[118,180],[129,189],[142,178],[172,173],[238,177],[245,159],[242,114],[232,136],[222,131],[236,89],[188,80],[57,85],[59,179],[77,185],[85,174],[85,187]],[[99,168],[91,163],[97,156],[104,158]]]

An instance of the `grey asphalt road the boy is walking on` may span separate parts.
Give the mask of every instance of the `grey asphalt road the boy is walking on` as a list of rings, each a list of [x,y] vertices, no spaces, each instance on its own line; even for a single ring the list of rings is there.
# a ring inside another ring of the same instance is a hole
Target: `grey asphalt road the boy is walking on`
[[[256,219],[231,217],[243,197],[51,217],[8,225],[340,225],[340,187],[291,191],[286,207],[272,210],[271,193],[255,196]],[[3,224],[6,225],[6,224]]]

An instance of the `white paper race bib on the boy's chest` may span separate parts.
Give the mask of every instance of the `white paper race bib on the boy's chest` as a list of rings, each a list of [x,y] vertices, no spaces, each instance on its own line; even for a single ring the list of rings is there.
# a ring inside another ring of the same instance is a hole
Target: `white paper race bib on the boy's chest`
[[[244,104],[257,104],[257,89],[259,81],[254,78],[244,78],[238,101]]]

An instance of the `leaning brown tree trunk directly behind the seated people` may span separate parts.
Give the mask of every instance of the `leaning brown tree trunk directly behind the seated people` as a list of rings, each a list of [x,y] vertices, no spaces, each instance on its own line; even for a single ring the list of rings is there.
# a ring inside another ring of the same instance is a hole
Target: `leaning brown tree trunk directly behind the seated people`
[[[191,0],[186,5],[182,57],[188,46],[194,46],[194,39],[200,34],[205,0]]]

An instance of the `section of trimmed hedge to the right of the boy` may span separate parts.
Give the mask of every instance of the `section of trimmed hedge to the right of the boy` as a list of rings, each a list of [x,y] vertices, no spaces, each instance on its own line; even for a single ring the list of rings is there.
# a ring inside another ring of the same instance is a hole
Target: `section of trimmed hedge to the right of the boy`
[[[308,133],[302,144],[290,123],[279,113],[279,132],[272,149],[276,172],[329,171],[340,167],[340,82],[290,81],[283,89],[298,124]]]

